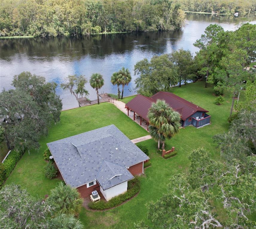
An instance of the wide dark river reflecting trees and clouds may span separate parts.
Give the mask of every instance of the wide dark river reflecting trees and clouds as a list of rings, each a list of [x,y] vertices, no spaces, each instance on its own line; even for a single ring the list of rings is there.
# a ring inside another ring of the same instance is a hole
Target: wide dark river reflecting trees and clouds
[[[61,38],[19,38],[0,40],[0,87],[11,89],[14,75],[29,71],[41,75],[47,81],[60,85],[68,75],[100,73],[104,86],[99,92],[117,94],[116,86],[110,83],[113,72],[121,67],[128,68],[132,82],[125,86],[124,96],[136,94],[134,87],[134,65],[143,58],[170,53],[180,48],[189,49],[193,55],[199,49],[193,43],[213,23],[224,30],[235,30],[239,17],[187,14],[182,29],[164,32],[122,33]],[[255,16],[251,22],[256,24]],[[89,99],[96,99],[96,92],[86,85]],[[63,109],[77,107],[74,96],[57,87],[57,94],[63,101]]]

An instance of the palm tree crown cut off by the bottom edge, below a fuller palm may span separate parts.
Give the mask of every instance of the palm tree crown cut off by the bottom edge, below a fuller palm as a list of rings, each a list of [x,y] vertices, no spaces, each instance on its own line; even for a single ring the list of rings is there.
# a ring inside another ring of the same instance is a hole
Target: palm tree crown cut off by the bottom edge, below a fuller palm
[[[83,224],[79,219],[76,219],[72,214],[60,214],[51,219],[50,228],[58,229],[83,229]]]

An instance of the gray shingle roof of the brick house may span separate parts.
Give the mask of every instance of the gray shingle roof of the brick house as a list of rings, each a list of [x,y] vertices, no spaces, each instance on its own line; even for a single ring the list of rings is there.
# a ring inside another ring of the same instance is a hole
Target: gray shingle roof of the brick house
[[[114,125],[47,145],[65,182],[72,187],[97,180],[106,190],[133,178],[126,167],[149,159]]]

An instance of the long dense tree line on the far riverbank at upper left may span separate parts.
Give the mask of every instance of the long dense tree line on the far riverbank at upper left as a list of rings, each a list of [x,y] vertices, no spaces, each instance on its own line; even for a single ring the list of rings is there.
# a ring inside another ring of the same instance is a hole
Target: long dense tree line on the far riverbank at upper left
[[[180,28],[185,14],[170,0],[1,0],[0,35],[89,35]]]

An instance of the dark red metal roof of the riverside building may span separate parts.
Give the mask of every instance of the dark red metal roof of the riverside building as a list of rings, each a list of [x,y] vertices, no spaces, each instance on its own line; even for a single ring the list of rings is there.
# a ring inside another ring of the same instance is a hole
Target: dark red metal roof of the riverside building
[[[186,120],[197,111],[208,112],[202,107],[199,107],[170,92],[157,92],[150,98],[143,95],[137,95],[135,98],[129,101],[126,106],[148,121],[148,109],[152,103],[156,102],[157,99],[165,100],[165,102],[168,103],[173,110],[176,110],[181,114],[182,120]]]

